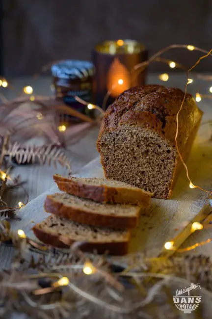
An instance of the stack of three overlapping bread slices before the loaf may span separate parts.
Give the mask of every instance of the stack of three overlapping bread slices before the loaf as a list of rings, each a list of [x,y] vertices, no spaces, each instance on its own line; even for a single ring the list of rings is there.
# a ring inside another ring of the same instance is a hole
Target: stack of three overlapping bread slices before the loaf
[[[53,176],[60,191],[48,195],[51,215],[33,227],[38,239],[66,248],[80,242],[84,251],[128,253],[130,230],[150,204],[150,192],[123,182],[99,178]]]

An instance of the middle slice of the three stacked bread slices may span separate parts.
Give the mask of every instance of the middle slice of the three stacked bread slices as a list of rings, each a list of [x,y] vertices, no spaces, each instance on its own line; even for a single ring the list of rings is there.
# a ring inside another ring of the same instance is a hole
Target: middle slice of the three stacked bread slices
[[[79,223],[112,228],[135,227],[141,210],[138,206],[96,203],[66,193],[48,195],[44,208],[48,213]]]

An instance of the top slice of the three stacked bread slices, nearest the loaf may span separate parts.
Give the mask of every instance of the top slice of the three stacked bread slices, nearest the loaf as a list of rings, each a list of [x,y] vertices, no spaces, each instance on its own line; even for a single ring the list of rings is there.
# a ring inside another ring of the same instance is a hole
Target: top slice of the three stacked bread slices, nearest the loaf
[[[53,179],[58,188],[66,193],[102,203],[148,206],[153,195],[127,183],[104,178],[63,177],[56,174]]]

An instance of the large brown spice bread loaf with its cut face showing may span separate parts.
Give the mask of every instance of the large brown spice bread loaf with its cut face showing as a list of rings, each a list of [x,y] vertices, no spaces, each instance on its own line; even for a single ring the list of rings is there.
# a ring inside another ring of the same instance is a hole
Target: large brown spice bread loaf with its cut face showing
[[[97,149],[107,179],[128,183],[168,199],[182,169],[175,135],[176,115],[184,98],[177,88],[133,87],[110,105]],[[179,113],[178,145],[187,159],[203,112],[186,94]]]

